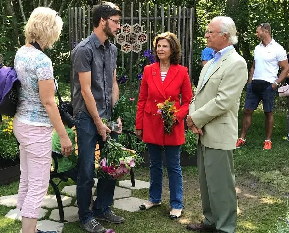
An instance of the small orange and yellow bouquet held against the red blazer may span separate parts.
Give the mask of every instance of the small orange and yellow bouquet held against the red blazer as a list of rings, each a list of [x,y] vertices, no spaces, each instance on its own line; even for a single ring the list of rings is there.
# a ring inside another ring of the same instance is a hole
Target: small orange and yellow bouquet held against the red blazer
[[[165,133],[170,134],[173,130],[173,126],[176,124],[177,117],[175,113],[179,110],[174,106],[175,101],[170,102],[170,97],[163,103],[158,103],[156,106],[158,107],[157,114],[160,115],[161,119],[163,119]]]

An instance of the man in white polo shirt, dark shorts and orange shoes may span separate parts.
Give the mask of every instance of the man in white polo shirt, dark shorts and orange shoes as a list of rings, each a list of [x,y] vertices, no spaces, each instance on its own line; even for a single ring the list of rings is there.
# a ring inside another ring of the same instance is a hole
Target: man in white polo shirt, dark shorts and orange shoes
[[[274,126],[274,96],[279,84],[286,78],[289,66],[286,51],[271,38],[269,23],[260,24],[256,29],[255,36],[261,43],[254,50],[254,60],[247,84],[242,132],[237,140],[236,147],[240,148],[246,144],[246,135],[252,124],[253,111],[257,109],[262,100],[266,128],[263,150],[270,150],[272,148],[271,135]],[[282,72],[278,77],[279,66]]]

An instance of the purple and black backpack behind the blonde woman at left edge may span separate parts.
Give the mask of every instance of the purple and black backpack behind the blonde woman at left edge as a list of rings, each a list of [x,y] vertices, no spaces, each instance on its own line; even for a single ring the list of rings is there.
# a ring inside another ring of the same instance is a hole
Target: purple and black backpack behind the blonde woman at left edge
[[[20,86],[13,67],[0,69],[0,114],[14,116],[18,102],[17,88]]]

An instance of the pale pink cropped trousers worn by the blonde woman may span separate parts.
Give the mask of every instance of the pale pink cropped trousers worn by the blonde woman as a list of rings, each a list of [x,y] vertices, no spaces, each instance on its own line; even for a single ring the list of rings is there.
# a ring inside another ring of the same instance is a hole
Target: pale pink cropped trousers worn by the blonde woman
[[[53,127],[32,126],[14,118],[13,133],[20,143],[20,184],[16,207],[21,216],[37,218],[49,185]]]

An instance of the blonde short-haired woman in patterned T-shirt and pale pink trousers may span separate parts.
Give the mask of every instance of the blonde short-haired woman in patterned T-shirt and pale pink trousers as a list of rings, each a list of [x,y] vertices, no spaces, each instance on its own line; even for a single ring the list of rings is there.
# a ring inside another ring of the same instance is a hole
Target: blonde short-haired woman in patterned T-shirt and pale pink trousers
[[[17,51],[14,60],[21,82],[13,133],[20,143],[21,177],[16,207],[21,210],[22,233],[56,233],[36,229],[49,185],[53,128],[60,137],[62,154],[72,153],[54,100],[52,62],[43,53],[59,39],[62,24],[56,11],[36,8],[25,26],[26,44]]]

